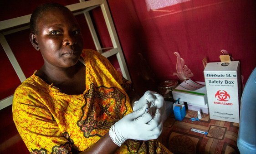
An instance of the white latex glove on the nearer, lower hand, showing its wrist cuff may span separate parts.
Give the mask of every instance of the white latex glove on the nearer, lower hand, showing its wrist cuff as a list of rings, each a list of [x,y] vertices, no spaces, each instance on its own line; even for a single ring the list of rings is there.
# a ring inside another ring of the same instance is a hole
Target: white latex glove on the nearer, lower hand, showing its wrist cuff
[[[163,129],[160,111],[157,110],[152,117],[148,108],[149,104],[145,104],[111,126],[109,136],[115,144],[121,146],[127,139],[153,140],[159,137]]]

